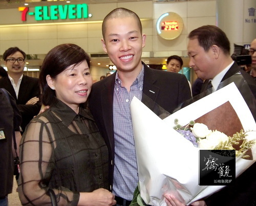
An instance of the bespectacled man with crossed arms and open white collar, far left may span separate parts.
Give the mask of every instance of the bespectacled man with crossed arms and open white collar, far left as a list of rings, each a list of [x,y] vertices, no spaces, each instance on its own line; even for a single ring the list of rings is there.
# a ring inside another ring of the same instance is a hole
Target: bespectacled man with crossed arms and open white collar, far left
[[[38,79],[23,75],[25,58],[25,52],[17,47],[6,50],[3,59],[8,69],[8,77],[0,79],[0,87],[8,90],[16,100],[17,107],[22,114],[23,132],[41,107]]]

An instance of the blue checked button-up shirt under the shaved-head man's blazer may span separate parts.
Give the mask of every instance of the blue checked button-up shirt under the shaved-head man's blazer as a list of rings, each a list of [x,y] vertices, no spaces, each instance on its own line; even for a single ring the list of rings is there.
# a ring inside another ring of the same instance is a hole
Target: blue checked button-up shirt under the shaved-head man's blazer
[[[113,99],[113,121],[115,136],[115,167],[113,193],[126,200],[133,199],[138,185],[138,170],[130,104],[133,97],[142,98],[144,67],[130,87],[130,92],[122,86],[116,74]]]

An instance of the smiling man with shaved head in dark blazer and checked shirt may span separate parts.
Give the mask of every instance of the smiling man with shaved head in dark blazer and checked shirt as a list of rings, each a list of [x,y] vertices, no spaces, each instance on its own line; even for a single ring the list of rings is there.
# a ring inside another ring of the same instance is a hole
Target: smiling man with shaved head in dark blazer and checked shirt
[[[134,12],[113,10],[103,20],[102,35],[103,50],[117,72],[93,84],[89,107],[109,147],[110,185],[117,205],[129,205],[138,184],[130,112],[133,97],[153,111],[158,104],[171,113],[191,93],[184,75],[153,70],[141,61],[146,36]],[[156,113],[161,115],[159,111]]]

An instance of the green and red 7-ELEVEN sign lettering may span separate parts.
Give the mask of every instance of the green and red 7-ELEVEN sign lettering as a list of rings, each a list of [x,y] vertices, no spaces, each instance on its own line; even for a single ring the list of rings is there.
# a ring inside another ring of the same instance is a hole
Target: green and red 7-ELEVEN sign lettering
[[[18,10],[22,12],[22,21],[27,20],[27,14],[37,21],[88,18],[87,4],[38,6],[34,12],[29,12],[28,7],[19,7]]]

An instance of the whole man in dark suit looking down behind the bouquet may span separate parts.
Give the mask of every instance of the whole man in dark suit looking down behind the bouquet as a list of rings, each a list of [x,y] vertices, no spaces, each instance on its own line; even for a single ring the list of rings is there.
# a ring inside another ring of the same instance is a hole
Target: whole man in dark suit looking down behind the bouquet
[[[255,81],[230,57],[230,43],[226,34],[216,26],[207,25],[191,31],[188,39],[189,66],[199,78],[206,79],[202,86],[202,94],[207,95],[207,90],[212,92],[234,82],[255,119]],[[256,163],[242,173],[233,186],[226,186],[206,198],[206,205],[256,205],[255,174]],[[182,205],[178,200],[174,202]]]

